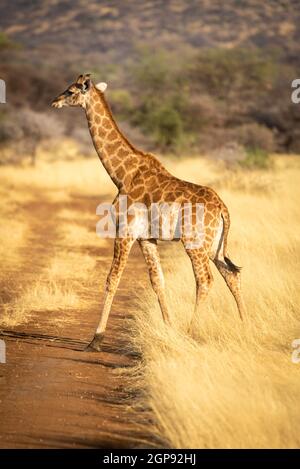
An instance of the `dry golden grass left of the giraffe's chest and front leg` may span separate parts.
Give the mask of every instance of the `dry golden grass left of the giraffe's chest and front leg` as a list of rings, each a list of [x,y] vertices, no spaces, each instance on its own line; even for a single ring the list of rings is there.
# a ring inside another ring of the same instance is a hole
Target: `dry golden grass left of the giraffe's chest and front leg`
[[[3,167],[0,181],[0,327],[26,324],[49,313],[55,313],[51,323],[57,326],[73,321],[74,309],[91,306],[86,284],[95,280],[96,258],[85,248],[106,241],[84,226],[91,226],[93,218],[96,225],[96,206],[89,213],[69,204],[74,193],[76,202],[77,197],[101,196],[103,187],[112,191],[104,170],[97,160],[41,162],[34,168]],[[40,220],[40,213],[34,213],[39,201],[47,207],[47,217]],[[45,248],[50,248],[49,254]],[[42,256],[36,254],[40,251]]]

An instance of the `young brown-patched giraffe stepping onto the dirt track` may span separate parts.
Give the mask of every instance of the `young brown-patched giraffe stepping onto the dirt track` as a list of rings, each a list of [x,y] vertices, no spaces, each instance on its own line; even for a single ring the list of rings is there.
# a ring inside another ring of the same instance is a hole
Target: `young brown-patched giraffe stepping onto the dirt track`
[[[118,208],[120,195],[127,196],[128,208],[136,202],[142,202],[148,210],[152,203],[179,203],[181,207],[185,203],[203,204],[204,236],[201,246],[191,248],[187,237],[184,234],[180,236],[191,259],[195,275],[195,311],[199,310],[213,281],[209,265],[211,259],[233,294],[242,319],[245,308],[241,296],[240,269],[230,261],[226,249],[230,225],[227,207],[211,188],[198,186],[172,176],[153,155],[134,148],[114,121],[104,97],[106,86],[105,83],[95,86],[90,75],[80,75],[75,83],[54,99],[52,106],[56,108],[81,106],[85,110],[94,147],[119,190],[113,202],[116,208]],[[100,350],[112,301],[130,249],[136,239],[148,266],[150,280],[157,294],[163,319],[166,323],[170,323],[164,277],[157,250],[157,239],[162,238],[160,236],[155,239],[150,236],[148,238],[134,237],[132,234],[122,238],[116,237],[114,258],[107,277],[101,318],[88,349]]]

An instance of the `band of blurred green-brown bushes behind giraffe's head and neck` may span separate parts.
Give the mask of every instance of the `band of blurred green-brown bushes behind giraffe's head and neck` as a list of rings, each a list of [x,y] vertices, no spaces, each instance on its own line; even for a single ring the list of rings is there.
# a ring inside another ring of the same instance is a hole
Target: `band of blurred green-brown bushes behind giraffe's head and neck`
[[[1,37],[6,43],[5,36],[0,36],[0,43]],[[95,82],[108,82],[107,98],[116,120],[123,128],[126,125],[128,136],[139,135],[145,150],[297,151],[300,106],[291,105],[288,81],[296,71],[280,60],[278,54],[254,47],[180,53],[176,48],[139,46],[122,67],[101,64],[87,70]],[[10,85],[10,104],[45,113],[61,90],[58,83],[63,88],[74,79],[79,69],[75,65],[72,73],[37,70],[21,63],[8,67],[3,78]],[[80,113],[64,110],[59,119],[67,137],[76,135],[82,141]],[[1,130],[2,141],[6,131]]]

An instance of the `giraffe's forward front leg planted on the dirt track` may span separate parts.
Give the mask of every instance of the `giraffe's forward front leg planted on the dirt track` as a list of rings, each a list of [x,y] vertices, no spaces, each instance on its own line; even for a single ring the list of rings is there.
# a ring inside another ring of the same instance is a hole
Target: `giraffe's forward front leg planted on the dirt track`
[[[100,351],[101,349],[101,342],[104,338],[104,332],[106,329],[108,316],[111,310],[111,305],[133,243],[134,239],[131,238],[116,238],[115,240],[114,258],[106,281],[105,299],[100,321],[96,330],[96,334],[92,342],[88,345],[86,349],[87,351]]]

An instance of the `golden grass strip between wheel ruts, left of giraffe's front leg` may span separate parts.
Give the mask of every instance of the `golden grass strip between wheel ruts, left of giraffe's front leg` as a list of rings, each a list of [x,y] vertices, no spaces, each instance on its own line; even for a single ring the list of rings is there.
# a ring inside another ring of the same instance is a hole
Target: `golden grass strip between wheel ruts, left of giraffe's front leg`
[[[80,238],[78,238],[78,241]],[[60,326],[75,322],[74,309],[87,308],[83,281],[94,278],[95,259],[80,252],[61,250],[50,260],[40,278],[17,290],[12,301],[1,306],[0,326],[14,327],[28,323],[39,314],[55,313],[52,323]],[[13,287],[12,287],[13,293]],[[12,295],[13,296],[13,295]],[[57,314],[58,313],[58,314]]]

